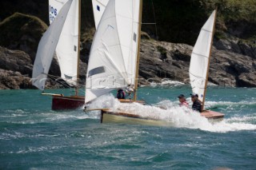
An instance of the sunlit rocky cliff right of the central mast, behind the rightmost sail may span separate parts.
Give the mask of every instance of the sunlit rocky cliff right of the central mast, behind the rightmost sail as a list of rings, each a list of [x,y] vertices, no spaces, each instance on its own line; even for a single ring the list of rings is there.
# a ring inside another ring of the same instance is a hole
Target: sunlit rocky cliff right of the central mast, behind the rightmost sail
[[[142,83],[161,83],[163,78],[189,83],[190,55],[186,44],[142,40],[139,74]],[[256,87],[254,58],[213,48],[209,81],[222,86]]]

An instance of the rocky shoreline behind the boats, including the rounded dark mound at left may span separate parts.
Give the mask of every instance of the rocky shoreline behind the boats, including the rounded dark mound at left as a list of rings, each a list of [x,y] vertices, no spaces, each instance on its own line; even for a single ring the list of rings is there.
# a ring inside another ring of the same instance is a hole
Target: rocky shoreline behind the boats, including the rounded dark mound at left
[[[18,23],[17,23],[18,22]],[[18,32],[9,32],[16,24]],[[33,28],[33,31],[31,30]],[[34,89],[31,85],[34,57],[42,34],[47,26],[42,20],[25,14],[14,14],[0,23],[0,89]],[[94,30],[82,35],[80,56],[80,81],[85,85],[86,68]],[[256,42],[255,42],[256,43]],[[190,53],[193,46],[158,42],[142,33],[139,65],[139,85],[161,83],[162,80],[179,81],[189,84]],[[256,45],[238,38],[214,39],[210,60],[209,81],[215,85],[230,87],[256,87]],[[60,76],[58,61],[50,67],[50,74]],[[46,88],[64,88],[54,80]]]

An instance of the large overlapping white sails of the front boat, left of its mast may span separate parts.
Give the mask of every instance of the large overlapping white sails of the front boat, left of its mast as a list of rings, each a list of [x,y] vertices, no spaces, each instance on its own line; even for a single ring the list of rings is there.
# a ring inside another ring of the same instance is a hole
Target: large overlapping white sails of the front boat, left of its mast
[[[134,85],[140,1],[110,0],[90,49],[86,103],[113,89]]]

